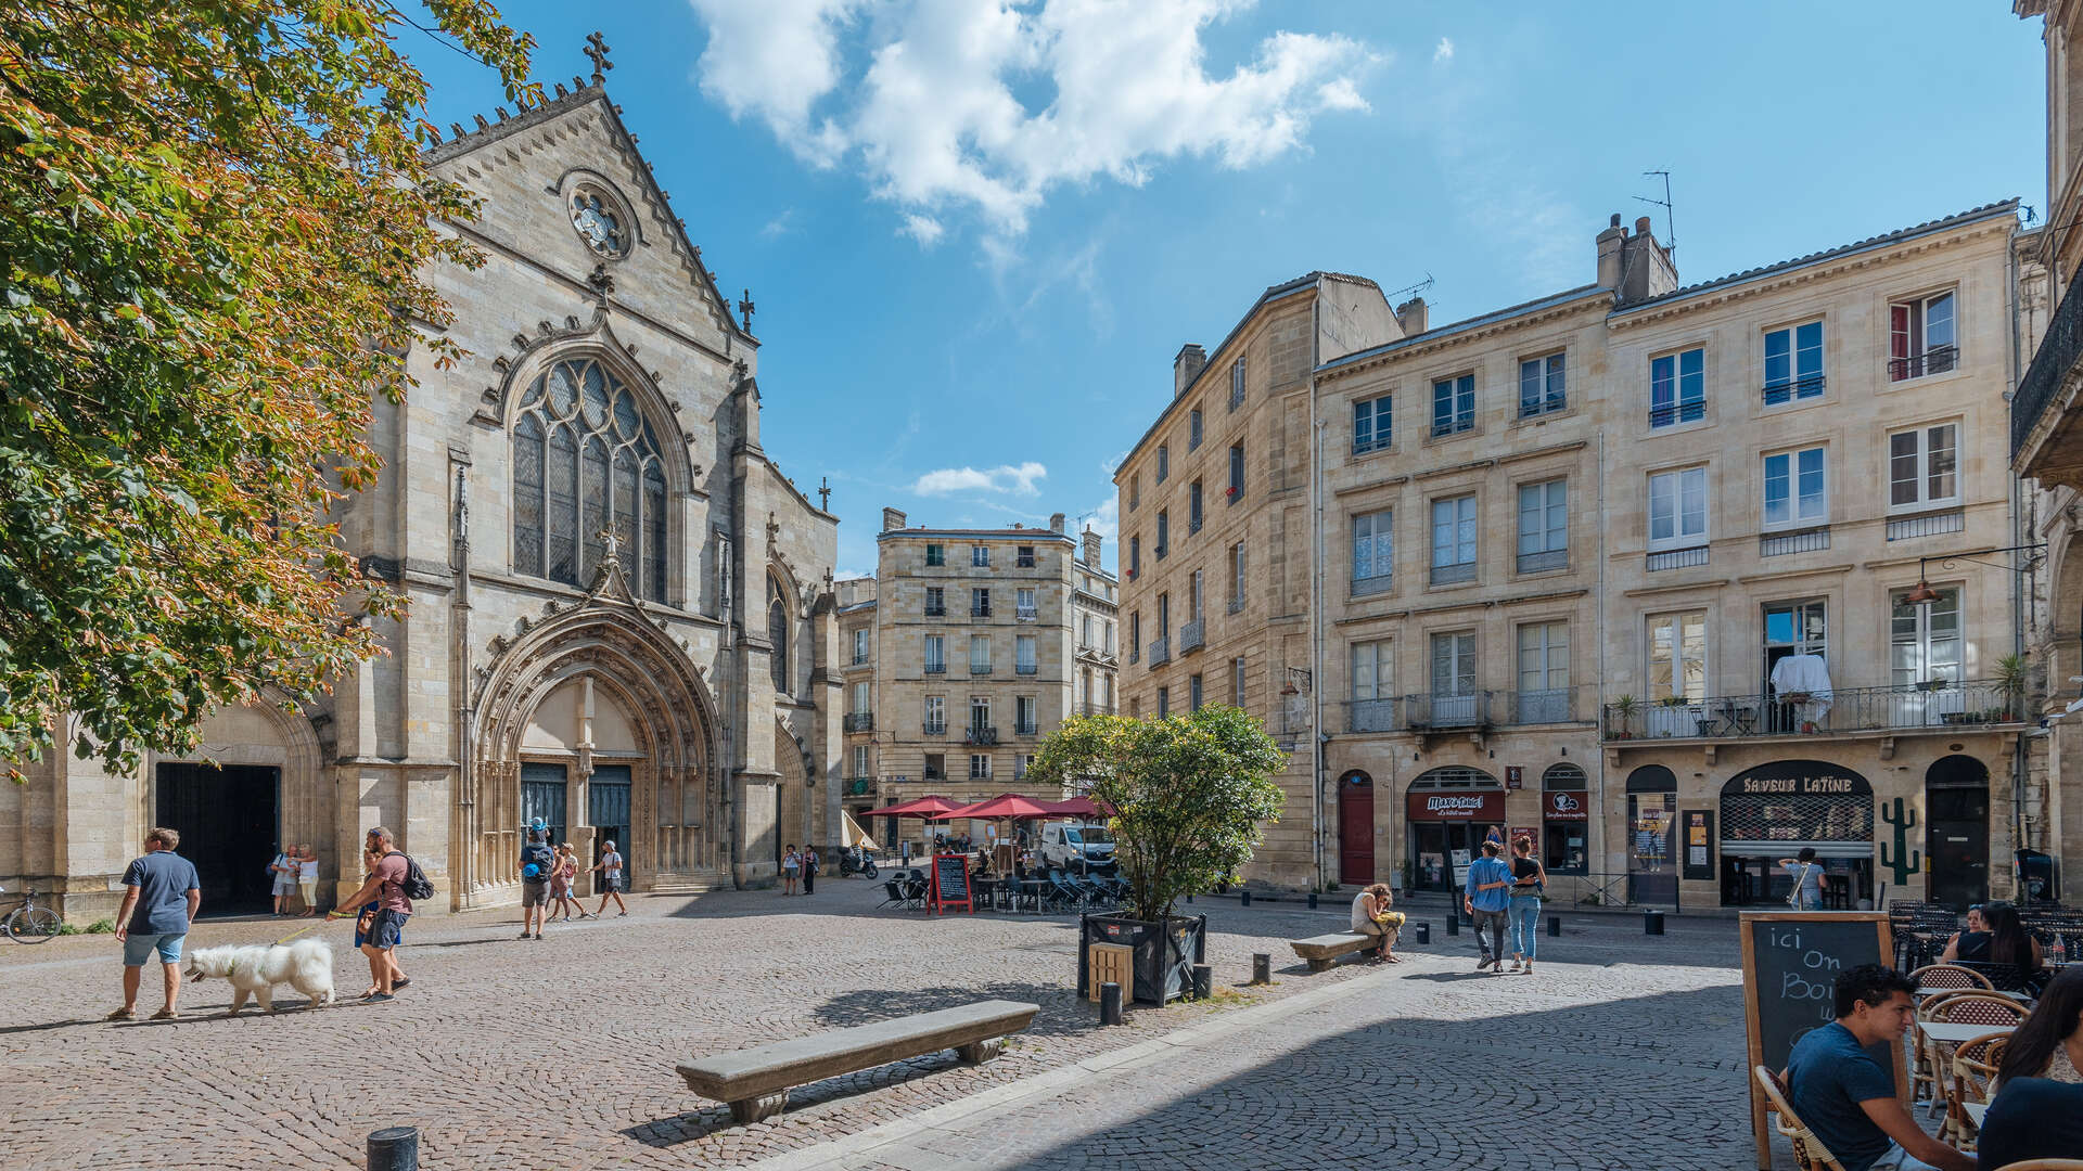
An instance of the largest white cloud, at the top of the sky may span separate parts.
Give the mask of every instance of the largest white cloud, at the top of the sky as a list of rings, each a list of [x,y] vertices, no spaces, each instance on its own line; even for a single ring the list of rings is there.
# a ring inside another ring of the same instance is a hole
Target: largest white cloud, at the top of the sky
[[[812,165],[858,160],[923,246],[952,210],[1010,238],[1064,183],[1298,150],[1312,115],[1369,108],[1356,75],[1379,60],[1341,35],[1275,31],[1210,71],[1202,31],[1254,0],[689,4],[710,31],[702,92]],[[864,50],[848,60],[842,44]]]

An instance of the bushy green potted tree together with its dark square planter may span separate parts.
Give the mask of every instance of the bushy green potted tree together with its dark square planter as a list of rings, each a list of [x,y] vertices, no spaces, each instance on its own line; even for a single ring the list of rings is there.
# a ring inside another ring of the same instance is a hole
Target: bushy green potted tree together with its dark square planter
[[[1042,742],[1027,779],[1077,790],[1112,811],[1114,865],[1129,883],[1123,911],[1079,925],[1077,988],[1087,994],[1091,944],[1133,948],[1135,988],[1125,998],[1164,1004],[1194,988],[1208,917],[1173,908],[1187,894],[1233,881],[1283,794],[1273,777],[1287,754],[1258,719],[1208,704],[1189,715],[1062,721]]]

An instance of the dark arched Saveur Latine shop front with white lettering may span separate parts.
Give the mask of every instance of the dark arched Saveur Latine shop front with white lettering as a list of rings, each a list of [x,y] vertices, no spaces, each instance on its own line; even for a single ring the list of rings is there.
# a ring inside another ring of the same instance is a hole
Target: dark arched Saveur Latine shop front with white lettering
[[[1873,906],[1873,783],[1827,761],[1773,761],[1721,788],[1721,902],[1777,906],[1793,875],[1779,863],[1814,848],[1825,906]]]

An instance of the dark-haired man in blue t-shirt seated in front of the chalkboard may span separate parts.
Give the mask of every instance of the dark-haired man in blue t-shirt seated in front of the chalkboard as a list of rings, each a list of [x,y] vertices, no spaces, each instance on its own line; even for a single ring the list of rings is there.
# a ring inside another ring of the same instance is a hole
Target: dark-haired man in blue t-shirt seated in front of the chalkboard
[[[1843,1171],[1975,1171],[1960,1154],[1925,1133],[1896,1098],[1896,1077],[1866,1046],[1902,1046],[1916,1019],[1916,986],[1891,967],[1860,965],[1837,975],[1837,1019],[1810,1031],[1781,1075],[1787,1104],[1837,1156]]]

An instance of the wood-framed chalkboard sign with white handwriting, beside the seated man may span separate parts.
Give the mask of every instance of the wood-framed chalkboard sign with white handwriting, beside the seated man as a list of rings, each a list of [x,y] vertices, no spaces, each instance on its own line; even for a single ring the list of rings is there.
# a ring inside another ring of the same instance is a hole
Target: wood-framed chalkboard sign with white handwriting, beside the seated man
[[[1879,911],[1746,911],[1743,913],[1743,1025],[1750,1065],[1773,1073],[1810,1031],[1837,1019],[1837,973],[1862,963],[1891,963],[1896,942]],[[1908,1098],[1900,1044],[1866,1052],[1881,1069],[1896,1071],[1896,1096]],[[1764,1096],[1750,1079],[1750,1123],[1758,1140],[1758,1167],[1773,1165],[1764,1123]]]

